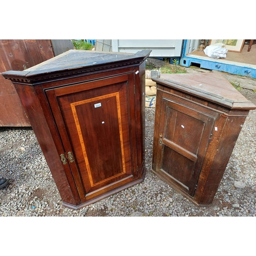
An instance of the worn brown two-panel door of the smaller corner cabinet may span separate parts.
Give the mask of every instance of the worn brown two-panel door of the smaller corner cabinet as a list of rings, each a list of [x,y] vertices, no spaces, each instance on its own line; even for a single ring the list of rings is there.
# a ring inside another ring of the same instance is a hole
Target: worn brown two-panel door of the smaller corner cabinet
[[[215,118],[162,99],[157,170],[194,195]]]

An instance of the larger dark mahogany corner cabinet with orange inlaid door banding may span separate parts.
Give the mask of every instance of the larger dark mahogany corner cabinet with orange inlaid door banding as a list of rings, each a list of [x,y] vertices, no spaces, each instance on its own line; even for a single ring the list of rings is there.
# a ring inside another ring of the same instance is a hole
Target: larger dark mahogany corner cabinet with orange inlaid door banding
[[[77,209],[144,180],[145,60],[69,50],[14,84],[65,206]]]

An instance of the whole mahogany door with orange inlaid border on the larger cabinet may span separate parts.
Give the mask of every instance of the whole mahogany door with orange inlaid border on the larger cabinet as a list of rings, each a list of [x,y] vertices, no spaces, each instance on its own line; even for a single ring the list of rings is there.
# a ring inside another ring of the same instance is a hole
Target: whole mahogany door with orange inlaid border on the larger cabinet
[[[133,73],[46,93],[81,198],[136,178]]]

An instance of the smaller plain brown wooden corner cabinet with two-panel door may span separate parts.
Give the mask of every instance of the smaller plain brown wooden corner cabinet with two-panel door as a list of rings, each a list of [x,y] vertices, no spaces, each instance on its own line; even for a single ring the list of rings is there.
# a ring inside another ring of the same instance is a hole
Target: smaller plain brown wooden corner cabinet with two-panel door
[[[197,206],[212,203],[243,123],[256,106],[222,74],[161,74],[152,172]]]

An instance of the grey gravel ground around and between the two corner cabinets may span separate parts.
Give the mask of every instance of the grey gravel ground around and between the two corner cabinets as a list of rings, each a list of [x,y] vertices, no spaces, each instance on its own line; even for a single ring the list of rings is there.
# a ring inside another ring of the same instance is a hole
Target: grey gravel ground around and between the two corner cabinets
[[[256,82],[255,82],[256,84]],[[256,104],[256,92],[241,93]],[[250,111],[208,207],[197,207],[150,170],[154,108],[146,108],[144,182],[79,210],[62,206],[44,155],[30,127],[0,127],[0,216],[256,216],[256,118]]]

